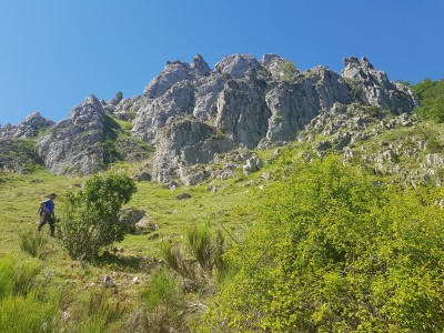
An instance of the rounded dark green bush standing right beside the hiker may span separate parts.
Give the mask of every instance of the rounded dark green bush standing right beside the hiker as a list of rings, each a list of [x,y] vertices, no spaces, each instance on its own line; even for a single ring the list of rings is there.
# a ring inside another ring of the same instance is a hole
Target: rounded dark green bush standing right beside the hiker
[[[103,246],[123,240],[119,211],[135,191],[129,176],[114,173],[95,174],[83,190],[68,194],[59,234],[71,258],[92,260]]]

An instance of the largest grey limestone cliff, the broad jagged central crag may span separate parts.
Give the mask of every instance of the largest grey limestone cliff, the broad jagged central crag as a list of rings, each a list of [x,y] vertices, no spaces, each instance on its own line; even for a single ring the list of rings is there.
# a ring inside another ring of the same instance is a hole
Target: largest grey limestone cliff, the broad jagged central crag
[[[250,54],[234,54],[216,63],[214,70],[200,56],[191,64],[168,62],[145,88],[145,105],[139,108],[132,130],[135,137],[157,145],[154,176],[168,181],[180,176],[181,165],[190,164],[180,150],[172,149],[184,140],[178,134],[182,122],[170,121],[174,118],[201,123],[184,133],[194,144],[208,142],[209,127],[230,143],[210,145],[211,151],[196,158],[209,160],[208,155],[236,145],[253,149],[285,144],[335,104],[374,105],[394,113],[411,112],[417,105],[407,88],[391,82],[365,58],[344,59],[341,75],[326,67],[289,73],[289,63],[276,54],[265,54],[261,61]],[[203,128],[205,132],[199,132]],[[163,129],[178,133],[165,138]]]

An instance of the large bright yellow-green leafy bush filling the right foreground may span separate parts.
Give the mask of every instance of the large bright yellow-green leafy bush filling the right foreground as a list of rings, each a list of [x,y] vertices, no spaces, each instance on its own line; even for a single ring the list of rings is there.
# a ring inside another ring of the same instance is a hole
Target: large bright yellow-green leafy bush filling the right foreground
[[[443,190],[381,185],[334,158],[286,169],[202,331],[441,331]]]

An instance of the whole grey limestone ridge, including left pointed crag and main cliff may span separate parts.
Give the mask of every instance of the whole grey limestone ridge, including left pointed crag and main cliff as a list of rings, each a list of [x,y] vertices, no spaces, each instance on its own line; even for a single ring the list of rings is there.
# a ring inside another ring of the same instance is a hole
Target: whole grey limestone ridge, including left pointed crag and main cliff
[[[198,54],[191,63],[167,62],[143,95],[123,99],[118,93],[110,101],[91,95],[67,120],[53,124],[32,114],[19,127],[0,128],[0,138],[36,138],[47,129],[37,139],[37,153],[56,173],[90,174],[114,161],[140,161],[154,145],[148,172],[160,182],[179,178],[191,183],[189,167],[209,163],[239,147],[270,148],[301,140],[300,133],[313,124],[321,128],[326,114],[339,117],[321,130],[333,133],[341,121],[353,117],[351,105],[389,109],[394,114],[417,105],[408,88],[391,82],[367,59],[351,57],[344,64],[341,74],[326,67],[301,71],[276,54],[260,61],[234,54],[210,69]],[[113,119],[125,127],[131,122],[131,133]],[[357,123],[365,123],[361,120]],[[360,133],[341,135],[345,139],[339,147]]]

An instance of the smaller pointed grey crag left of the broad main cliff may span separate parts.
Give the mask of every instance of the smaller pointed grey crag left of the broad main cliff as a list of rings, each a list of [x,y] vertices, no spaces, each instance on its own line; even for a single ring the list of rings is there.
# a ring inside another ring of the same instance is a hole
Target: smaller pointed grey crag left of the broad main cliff
[[[71,117],[39,138],[37,152],[54,173],[91,174],[103,168],[105,113],[100,101],[88,97]]]

